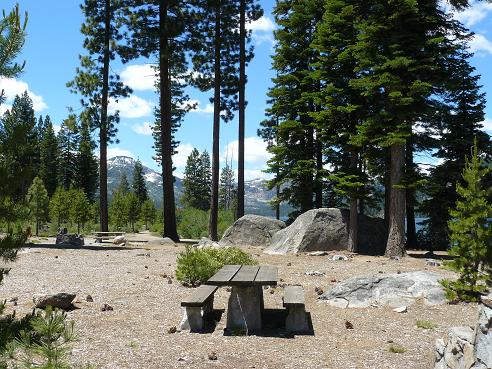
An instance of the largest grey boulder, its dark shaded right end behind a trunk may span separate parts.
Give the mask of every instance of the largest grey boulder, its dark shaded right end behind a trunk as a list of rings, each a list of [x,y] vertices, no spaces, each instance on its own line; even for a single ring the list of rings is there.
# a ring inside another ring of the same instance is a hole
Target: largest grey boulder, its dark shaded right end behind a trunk
[[[357,252],[383,254],[387,232],[384,220],[359,215]],[[269,254],[346,250],[349,246],[349,211],[336,208],[313,209],[301,214],[290,226],[275,233]]]

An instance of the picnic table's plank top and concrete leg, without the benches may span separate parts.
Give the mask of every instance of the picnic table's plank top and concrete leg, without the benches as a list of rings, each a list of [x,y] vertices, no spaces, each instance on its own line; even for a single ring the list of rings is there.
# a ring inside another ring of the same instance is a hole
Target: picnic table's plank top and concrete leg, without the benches
[[[246,334],[261,331],[264,309],[263,286],[274,286],[278,268],[271,265],[224,265],[207,281],[212,286],[231,286],[227,309],[229,332],[243,330]]]

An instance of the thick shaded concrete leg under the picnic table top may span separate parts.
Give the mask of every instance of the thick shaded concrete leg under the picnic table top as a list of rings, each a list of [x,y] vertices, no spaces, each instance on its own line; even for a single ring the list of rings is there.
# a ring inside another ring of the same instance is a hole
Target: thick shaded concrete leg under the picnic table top
[[[258,287],[232,287],[227,309],[227,330],[252,334],[261,331],[263,293]]]

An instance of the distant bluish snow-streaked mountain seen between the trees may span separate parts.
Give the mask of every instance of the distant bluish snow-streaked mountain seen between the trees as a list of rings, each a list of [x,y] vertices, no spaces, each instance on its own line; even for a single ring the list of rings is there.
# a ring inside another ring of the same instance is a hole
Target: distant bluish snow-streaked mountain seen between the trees
[[[111,197],[113,190],[118,187],[120,178],[124,173],[128,179],[128,182],[132,183],[133,168],[135,166],[135,160],[127,156],[116,156],[108,160],[108,193]],[[162,207],[162,177],[161,175],[144,166],[143,172],[145,176],[145,182],[147,185],[147,191],[150,198],[154,201],[157,207]],[[175,177],[174,182],[174,195],[176,203],[180,205],[180,199],[183,196],[183,180]],[[267,190],[266,181],[263,179],[253,179],[245,181],[245,212],[247,214],[257,214],[264,216],[275,216],[275,211],[272,209],[269,201],[275,196],[274,190]],[[282,206],[281,215],[285,217],[292,209],[288,206]]]

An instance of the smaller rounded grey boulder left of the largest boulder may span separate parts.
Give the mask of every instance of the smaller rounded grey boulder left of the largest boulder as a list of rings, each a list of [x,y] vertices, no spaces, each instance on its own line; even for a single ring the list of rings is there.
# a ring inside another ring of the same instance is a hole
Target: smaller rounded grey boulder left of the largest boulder
[[[260,215],[247,214],[234,222],[222,236],[221,246],[270,245],[272,236],[285,228],[285,223]]]

